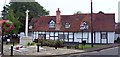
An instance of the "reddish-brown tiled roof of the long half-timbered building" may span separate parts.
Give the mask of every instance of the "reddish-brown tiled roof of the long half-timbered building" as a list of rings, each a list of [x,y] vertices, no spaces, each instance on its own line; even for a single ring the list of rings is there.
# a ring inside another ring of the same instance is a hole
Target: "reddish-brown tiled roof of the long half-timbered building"
[[[56,21],[56,16],[41,16],[37,22],[34,23],[34,28],[31,31],[56,31],[49,28],[48,22],[50,20]],[[86,21],[89,25],[90,31],[91,17],[90,14],[76,14],[76,15],[61,15],[61,29],[59,31],[78,32],[80,30],[81,22]],[[31,22],[33,22],[31,20]],[[65,28],[65,24],[69,23],[70,28]],[[115,14],[93,14],[93,30],[94,31],[115,31]]]

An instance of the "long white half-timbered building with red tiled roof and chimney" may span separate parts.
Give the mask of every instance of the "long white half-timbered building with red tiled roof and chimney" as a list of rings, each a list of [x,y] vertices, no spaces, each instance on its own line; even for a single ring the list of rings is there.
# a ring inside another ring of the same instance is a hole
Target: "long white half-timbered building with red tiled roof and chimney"
[[[56,16],[41,16],[33,18],[29,23],[29,32],[34,39],[63,40],[66,42],[91,43],[91,17],[90,14],[61,15],[60,10]],[[93,42],[114,43],[115,14],[93,13]]]

